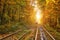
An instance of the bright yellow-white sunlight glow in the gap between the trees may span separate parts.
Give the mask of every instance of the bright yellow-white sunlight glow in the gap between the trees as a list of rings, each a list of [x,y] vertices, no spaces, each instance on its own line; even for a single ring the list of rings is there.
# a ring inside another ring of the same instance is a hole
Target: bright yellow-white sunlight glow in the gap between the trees
[[[31,5],[34,7],[35,22],[37,24],[40,24],[41,23],[41,18],[42,18],[42,12],[41,12],[41,9],[39,8],[38,1],[34,0],[33,2],[31,2]]]

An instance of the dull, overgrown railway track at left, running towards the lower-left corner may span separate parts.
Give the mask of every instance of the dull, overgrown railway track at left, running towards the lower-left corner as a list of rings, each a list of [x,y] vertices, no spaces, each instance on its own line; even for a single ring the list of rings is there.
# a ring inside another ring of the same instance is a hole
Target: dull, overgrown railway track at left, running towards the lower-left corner
[[[29,34],[29,32],[30,32],[30,30],[24,30],[24,31],[17,30],[14,33],[8,34],[8,35],[0,38],[0,40],[20,40],[20,38],[22,38],[26,34]]]

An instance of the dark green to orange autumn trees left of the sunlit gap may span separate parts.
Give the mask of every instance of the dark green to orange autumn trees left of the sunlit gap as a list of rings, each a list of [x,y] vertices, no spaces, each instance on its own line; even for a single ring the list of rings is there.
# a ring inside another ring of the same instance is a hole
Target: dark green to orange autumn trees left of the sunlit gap
[[[19,24],[28,24],[31,11],[28,0],[0,0],[0,33],[16,30]]]

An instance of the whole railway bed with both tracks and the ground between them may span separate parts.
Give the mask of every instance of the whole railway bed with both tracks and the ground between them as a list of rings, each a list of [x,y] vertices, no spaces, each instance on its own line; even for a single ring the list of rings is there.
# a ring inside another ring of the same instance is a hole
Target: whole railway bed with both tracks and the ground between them
[[[21,32],[21,30],[4,36],[3,38],[0,38],[0,40],[55,40],[54,37],[44,27],[29,29],[27,32],[25,31],[22,34],[19,32]],[[16,38],[15,35],[18,35],[19,37]],[[50,39],[47,36],[49,36]]]

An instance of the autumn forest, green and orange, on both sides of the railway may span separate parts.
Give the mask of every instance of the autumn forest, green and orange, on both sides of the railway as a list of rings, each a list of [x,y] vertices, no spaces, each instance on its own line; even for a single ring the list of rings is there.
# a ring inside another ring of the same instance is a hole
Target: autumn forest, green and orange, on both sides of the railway
[[[42,22],[57,40],[60,40],[60,0],[38,0]],[[14,32],[20,26],[32,25],[33,6],[29,0],[0,0],[0,34]],[[50,28],[50,30],[49,30]]]

